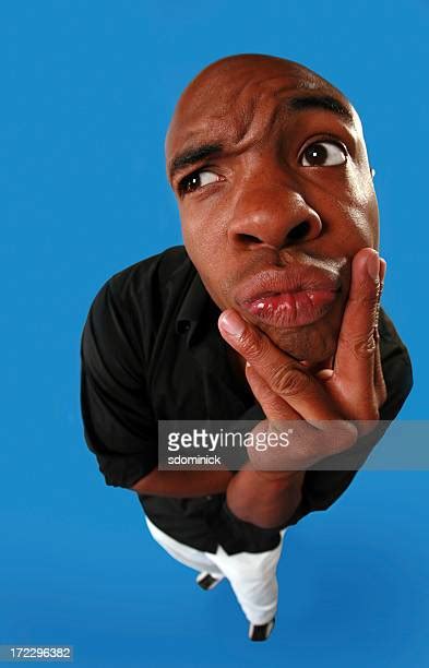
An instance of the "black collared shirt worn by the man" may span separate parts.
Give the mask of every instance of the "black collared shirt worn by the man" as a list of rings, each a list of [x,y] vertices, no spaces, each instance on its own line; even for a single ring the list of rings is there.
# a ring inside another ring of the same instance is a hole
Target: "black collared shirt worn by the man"
[[[265,419],[231,367],[219,313],[182,246],[124,269],[97,293],[81,341],[81,407],[107,485],[131,488],[157,466],[157,420]],[[388,386],[380,418],[392,420],[413,386],[412,365],[383,309],[379,331]],[[362,461],[377,440],[359,439]],[[332,505],[356,473],[307,470],[302,500],[285,526]],[[281,527],[242,522],[224,493],[139,499],[162,530],[203,551],[222,545],[229,554],[261,552],[279,541]]]

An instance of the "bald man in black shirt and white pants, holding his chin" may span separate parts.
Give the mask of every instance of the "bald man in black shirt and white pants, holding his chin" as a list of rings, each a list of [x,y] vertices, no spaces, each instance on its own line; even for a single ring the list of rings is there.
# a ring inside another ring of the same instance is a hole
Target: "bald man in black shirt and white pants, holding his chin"
[[[166,164],[184,248],[119,272],[94,299],[85,438],[107,485],[139,494],[153,537],[203,588],[226,576],[250,639],[265,640],[286,527],[356,475],[318,464],[348,451],[364,462],[413,385],[380,309],[372,171],[345,96],[262,55],[224,58],[190,83]],[[170,419],[249,419],[264,433],[299,420],[302,438],[279,465],[250,453],[238,472],[159,470],[157,424]]]

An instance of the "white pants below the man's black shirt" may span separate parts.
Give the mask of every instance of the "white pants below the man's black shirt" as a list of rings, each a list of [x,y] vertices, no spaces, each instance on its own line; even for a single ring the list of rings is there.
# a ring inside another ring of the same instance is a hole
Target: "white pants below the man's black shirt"
[[[147,517],[146,523],[152,537],[174,559],[195,571],[206,571],[214,577],[227,577],[249,622],[265,624],[273,619],[278,600],[276,569],[286,529],[281,532],[281,542],[274,550],[227,554],[218,546],[213,554],[175,540]]]

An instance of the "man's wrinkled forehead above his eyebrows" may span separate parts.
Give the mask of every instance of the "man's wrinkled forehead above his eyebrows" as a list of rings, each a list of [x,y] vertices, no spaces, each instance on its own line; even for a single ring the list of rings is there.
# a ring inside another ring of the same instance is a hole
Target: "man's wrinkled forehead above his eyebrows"
[[[342,107],[351,124],[359,122],[356,111],[337,88],[297,63],[208,68],[191,82],[179,99],[166,138],[167,164],[187,145],[202,140],[238,145],[245,140],[262,139],[276,117],[286,110],[285,103],[306,98],[322,100],[320,107],[324,100],[325,108],[335,107],[337,102],[337,111]],[[305,103],[300,108],[305,108]]]

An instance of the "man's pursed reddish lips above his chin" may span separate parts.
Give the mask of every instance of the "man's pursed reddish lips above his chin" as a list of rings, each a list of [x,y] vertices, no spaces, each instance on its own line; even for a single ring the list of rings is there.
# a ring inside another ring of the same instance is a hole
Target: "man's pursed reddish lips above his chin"
[[[291,329],[326,315],[339,293],[339,277],[331,272],[290,267],[258,274],[236,300],[252,320]]]

